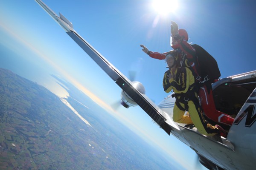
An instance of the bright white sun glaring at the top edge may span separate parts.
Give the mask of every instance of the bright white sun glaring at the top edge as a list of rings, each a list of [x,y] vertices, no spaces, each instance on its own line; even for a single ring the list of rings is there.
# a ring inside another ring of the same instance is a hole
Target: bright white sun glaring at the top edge
[[[175,13],[178,8],[177,0],[154,0],[152,7],[160,15],[167,15],[169,13]]]

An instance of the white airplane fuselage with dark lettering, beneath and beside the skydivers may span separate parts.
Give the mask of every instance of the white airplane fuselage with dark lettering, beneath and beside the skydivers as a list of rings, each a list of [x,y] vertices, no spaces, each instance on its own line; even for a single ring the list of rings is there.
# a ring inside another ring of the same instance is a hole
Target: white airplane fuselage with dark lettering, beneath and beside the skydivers
[[[172,117],[174,103],[175,98],[169,95],[158,106]],[[245,103],[239,114],[246,109],[246,105],[251,104]],[[233,124],[227,139],[220,136],[206,137],[198,133],[195,127],[188,129],[184,124],[178,123],[176,124],[179,125],[180,130],[173,128],[171,133],[199,155],[223,169],[252,170],[256,160],[256,123],[245,127],[245,122],[246,118],[242,119],[238,125]]]

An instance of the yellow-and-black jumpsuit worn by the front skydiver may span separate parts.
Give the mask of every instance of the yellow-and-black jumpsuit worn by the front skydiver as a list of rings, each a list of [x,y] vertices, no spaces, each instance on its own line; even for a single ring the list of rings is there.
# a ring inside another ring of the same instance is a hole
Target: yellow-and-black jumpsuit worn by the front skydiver
[[[178,71],[178,69],[180,70]],[[177,74],[177,72],[179,73]],[[171,74],[174,78],[169,78],[169,74]],[[165,72],[163,77],[164,91],[169,93],[171,90],[173,90],[178,96],[178,100],[176,99],[176,102],[180,101],[179,104],[182,108],[185,108],[185,105],[181,102],[181,100],[183,100],[181,98],[183,97],[180,97],[179,94],[182,94],[183,96],[185,94],[186,96],[190,90],[193,90],[193,87],[191,86],[193,86],[194,83],[195,78],[192,71],[186,67],[177,68],[174,74],[171,70],[168,70]],[[194,94],[195,97],[193,96],[193,99],[189,99],[188,97],[187,102],[190,116],[184,115],[185,111],[180,110],[175,102],[175,106],[173,108],[173,121],[177,123],[194,124],[198,131],[206,136],[213,136],[217,134],[219,132],[218,128],[210,125],[204,119],[199,105],[198,94],[196,92],[192,92],[192,95]]]

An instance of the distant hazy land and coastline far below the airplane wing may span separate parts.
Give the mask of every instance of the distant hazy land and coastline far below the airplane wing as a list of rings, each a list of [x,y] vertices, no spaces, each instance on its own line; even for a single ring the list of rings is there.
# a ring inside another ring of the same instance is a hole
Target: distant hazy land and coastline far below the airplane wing
[[[0,68],[1,170],[177,169],[73,85],[61,83],[70,94],[66,100],[91,126],[43,86]]]

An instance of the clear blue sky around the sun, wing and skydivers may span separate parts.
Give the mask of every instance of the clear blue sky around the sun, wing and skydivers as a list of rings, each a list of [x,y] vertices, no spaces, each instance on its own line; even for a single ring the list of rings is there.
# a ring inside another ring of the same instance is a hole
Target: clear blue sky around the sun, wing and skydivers
[[[148,57],[140,44],[151,51],[171,50],[172,20],[187,30],[189,42],[201,45],[215,57],[221,78],[256,70],[253,0],[179,0],[177,8],[166,15],[155,11],[152,2],[44,0],[53,11],[67,17],[74,29],[119,71],[128,76],[130,70],[136,70],[136,80],[143,83],[146,94],[156,103],[168,95],[162,87],[166,63]],[[1,45],[18,54],[14,59],[1,55],[0,67],[52,91],[58,86],[49,75],[59,75],[104,102],[104,107],[120,99],[121,89],[35,1],[0,0],[0,37]],[[154,125],[142,109],[119,108],[111,114],[175,155],[174,159],[186,169],[193,168],[195,153]]]

